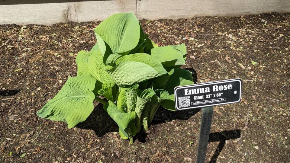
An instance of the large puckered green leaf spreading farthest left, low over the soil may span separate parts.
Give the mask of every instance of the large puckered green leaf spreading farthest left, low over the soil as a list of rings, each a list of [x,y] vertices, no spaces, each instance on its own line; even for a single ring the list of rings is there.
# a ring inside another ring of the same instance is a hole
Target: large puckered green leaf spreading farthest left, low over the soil
[[[66,121],[68,128],[76,126],[89,117],[94,110],[96,79],[85,74],[68,78],[56,96],[43,106],[37,115],[56,121]]]

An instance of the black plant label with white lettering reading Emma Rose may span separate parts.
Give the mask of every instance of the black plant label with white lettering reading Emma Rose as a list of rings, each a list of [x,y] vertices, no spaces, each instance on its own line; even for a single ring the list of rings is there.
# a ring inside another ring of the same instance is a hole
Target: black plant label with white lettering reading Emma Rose
[[[205,82],[174,88],[175,107],[185,110],[241,101],[241,79]]]

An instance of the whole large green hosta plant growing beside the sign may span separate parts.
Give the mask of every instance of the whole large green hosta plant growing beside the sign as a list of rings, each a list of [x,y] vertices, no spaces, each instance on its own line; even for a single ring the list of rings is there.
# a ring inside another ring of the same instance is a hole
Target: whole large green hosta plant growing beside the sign
[[[158,47],[132,12],[111,15],[95,28],[95,36],[92,50],[76,57],[76,77],[68,78],[37,115],[72,128],[86,120],[96,100],[118,124],[121,138],[133,143],[160,105],[175,110],[176,86],[193,84],[191,72],[180,69],[185,45]]]

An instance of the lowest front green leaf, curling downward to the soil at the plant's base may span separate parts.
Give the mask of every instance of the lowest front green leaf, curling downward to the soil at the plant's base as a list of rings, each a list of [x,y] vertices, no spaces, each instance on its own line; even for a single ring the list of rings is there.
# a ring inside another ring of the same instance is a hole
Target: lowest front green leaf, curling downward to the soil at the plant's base
[[[108,104],[104,105],[104,109],[118,124],[119,131],[121,131],[125,137],[129,137],[130,135],[128,134],[127,128],[129,127],[129,123],[135,119],[135,112],[122,113],[112,101],[108,101]]]

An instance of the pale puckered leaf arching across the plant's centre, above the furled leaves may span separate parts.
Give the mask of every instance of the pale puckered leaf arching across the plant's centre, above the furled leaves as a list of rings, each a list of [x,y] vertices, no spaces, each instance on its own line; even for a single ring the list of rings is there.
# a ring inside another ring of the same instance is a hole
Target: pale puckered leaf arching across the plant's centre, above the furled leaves
[[[159,70],[158,67],[155,67],[155,69]],[[109,69],[108,73],[118,86],[124,87],[131,86],[167,73],[166,71],[158,72],[155,69],[142,62],[127,61],[121,62],[112,69]]]

